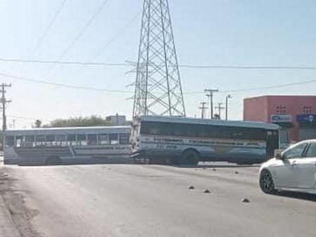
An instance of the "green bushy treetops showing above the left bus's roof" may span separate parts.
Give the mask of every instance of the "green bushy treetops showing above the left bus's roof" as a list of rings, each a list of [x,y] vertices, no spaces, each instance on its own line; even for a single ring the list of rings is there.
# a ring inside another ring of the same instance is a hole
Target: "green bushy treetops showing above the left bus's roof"
[[[111,126],[110,121],[99,116],[77,117],[77,118],[58,118],[45,127],[64,128],[64,127],[93,127],[93,126]]]

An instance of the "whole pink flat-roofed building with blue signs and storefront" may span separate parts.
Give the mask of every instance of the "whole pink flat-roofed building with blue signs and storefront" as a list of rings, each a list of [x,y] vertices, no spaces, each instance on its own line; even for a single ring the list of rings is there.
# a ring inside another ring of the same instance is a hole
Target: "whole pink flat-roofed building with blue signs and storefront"
[[[316,96],[267,95],[244,99],[244,120],[277,123],[281,143],[316,138]]]

